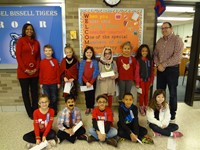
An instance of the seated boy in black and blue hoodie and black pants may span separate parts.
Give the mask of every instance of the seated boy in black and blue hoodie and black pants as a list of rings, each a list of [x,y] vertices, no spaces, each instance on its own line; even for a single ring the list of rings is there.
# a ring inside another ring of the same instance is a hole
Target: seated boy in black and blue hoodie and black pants
[[[138,109],[133,104],[133,95],[125,93],[122,103],[118,109],[119,121],[118,135],[122,138],[137,142],[138,139],[146,144],[153,144],[153,140],[148,137],[147,129],[141,127],[138,122]]]

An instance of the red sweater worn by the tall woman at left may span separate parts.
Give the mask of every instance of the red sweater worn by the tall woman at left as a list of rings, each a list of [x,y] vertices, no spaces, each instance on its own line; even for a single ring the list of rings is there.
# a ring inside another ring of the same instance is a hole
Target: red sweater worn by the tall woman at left
[[[36,68],[39,70],[40,44],[37,40],[30,40],[26,36],[20,38],[16,43],[16,58],[18,63],[18,78],[31,78],[38,76],[38,71],[31,76],[24,72],[26,69],[33,70]]]

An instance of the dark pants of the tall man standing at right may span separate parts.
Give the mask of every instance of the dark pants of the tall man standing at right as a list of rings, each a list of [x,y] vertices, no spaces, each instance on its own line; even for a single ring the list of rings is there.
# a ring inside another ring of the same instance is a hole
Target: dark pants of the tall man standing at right
[[[171,119],[175,119],[177,110],[177,86],[179,78],[179,66],[167,67],[165,71],[157,71],[157,89],[169,88],[169,105]]]

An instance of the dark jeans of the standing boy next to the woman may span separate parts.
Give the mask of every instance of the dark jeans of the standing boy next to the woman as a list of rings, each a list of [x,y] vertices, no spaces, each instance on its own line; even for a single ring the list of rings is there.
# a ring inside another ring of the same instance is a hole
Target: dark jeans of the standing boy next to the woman
[[[57,84],[43,84],[43,93],[48,95],[50,104],[49,106],[54,109],[57,114],[57,98],[58,98],[58,86]]]

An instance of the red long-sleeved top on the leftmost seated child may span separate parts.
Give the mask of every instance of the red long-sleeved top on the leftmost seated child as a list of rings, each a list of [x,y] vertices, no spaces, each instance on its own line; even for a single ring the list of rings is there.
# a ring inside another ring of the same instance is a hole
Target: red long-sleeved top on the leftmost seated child
[[[40,139],[40,133],[43,133],[43,136],[47,136],[50,129],[52,128],[54,117],[54,110],[49,108],[46,114],[42,114],[39,109],[36,109],[33,113],[33,126],[35,132],[35,138]]]

